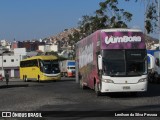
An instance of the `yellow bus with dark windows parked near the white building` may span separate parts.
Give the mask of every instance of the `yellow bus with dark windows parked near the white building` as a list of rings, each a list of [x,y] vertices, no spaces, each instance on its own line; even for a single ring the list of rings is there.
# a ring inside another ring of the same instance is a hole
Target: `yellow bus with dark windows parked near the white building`
[[[33,56],[20,61],[20,79],[48,81],[60,80],[60,69],[56,56]]]

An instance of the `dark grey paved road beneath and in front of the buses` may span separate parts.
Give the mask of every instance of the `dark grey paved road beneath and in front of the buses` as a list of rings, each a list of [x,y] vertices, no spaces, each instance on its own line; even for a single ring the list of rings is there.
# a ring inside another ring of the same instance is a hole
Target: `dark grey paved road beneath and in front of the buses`
[[[73,111],[74,114],[78,114],[76,111],[92,111],[87,114],[93,116],[95,111],[154,112],[160,111],[159,91],[160,84],[149,84],[148,92],[138,96],[121,93],[97,97],[93,90],[81,90],[73,78],[43,83],[14,80],[9,86],[4,81],[0,83],[0,111]],[[52,116],[54,113],[46,114]],[[61,114],[73,115],[72,112]]]

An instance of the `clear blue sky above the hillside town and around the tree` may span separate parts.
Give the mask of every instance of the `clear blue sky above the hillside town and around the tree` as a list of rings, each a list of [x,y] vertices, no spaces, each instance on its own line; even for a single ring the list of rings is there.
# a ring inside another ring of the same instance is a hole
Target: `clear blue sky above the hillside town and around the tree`
[[[104,0],[0,0],[0,40],[24,41],[54,36],[78,26],[83,15],[93,15]],[[133,14],[131,28],[144,30],[144,4],[135,0],[119,6]]]

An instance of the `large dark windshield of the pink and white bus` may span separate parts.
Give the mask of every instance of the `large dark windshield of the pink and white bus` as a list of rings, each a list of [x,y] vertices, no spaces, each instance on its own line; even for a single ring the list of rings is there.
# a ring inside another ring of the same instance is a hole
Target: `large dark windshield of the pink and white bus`
[[[104,50],[103,74],[108,76],[140,76],[147,74],[145,50]]]

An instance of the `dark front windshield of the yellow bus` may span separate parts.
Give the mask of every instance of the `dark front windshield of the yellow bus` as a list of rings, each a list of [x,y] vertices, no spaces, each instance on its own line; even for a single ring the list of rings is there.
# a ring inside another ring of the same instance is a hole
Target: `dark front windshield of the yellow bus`
[[[60,72],[59,63],[56,60],[41,60],[41,71],[47,74],[56,74]]]

